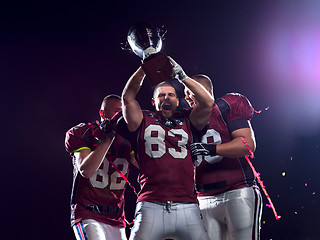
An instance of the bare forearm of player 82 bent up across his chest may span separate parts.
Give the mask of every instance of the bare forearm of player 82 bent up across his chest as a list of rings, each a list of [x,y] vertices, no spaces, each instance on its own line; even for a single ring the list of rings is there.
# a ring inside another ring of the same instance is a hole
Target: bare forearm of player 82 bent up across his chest
[[[81,160],[81,158],[79,159],[79,171],[83,177],[91,178],[99,169],[113,140],[114,137],[108,137],[103,140],[94,151],[90,152],[85,158],[83,158],[83,160]]]

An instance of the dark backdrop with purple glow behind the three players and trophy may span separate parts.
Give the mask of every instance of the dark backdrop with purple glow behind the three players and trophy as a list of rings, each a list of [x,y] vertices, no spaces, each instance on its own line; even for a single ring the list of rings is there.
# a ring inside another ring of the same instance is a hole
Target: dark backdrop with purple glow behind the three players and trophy
[[[120,43],[144,20],[166,26],[163,51],[210,76],[216,97],[240,92],[262,110],[252,162],[282,218],[264,196],[261,239],[320,239],[319,13],[317,0],[2,4],[1,238],[74,239],[65,132],[121,94],[140,60]]]

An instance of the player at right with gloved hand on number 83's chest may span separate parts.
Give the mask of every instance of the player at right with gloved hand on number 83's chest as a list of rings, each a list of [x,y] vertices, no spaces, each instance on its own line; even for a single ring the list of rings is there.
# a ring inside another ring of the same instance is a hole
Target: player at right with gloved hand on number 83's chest
[[[196,75],[213,96],[210,78]],[[194,94],[185,89],[191,107]],[[231,93],[215,101],[209,128],[201,143],[191,145],[196,156],[196,187],[200,210],[211,240],[260,239],[262,199],[245,155],[256,147],[250,120],[253,108],[246,97]],[[243,142],[243,140],[246,142]]]

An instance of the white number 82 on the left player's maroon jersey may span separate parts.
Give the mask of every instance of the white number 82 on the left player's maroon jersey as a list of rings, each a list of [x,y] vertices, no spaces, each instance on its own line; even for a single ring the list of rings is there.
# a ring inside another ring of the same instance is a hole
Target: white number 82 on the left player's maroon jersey
[[[129,163],[124,158],[116,158],[113,163],[119,169],[121,166],[121,173],[126,175],[128,172]],[[115,170],[110,176],[108,175],[109,167],[113,168],[107,158],[103,160],[103,168],[98,169],[93,176],[89,179],[91,185],[95,188],[103,189],[109,185],[110,182],[110,190],[121,190],[124,189],[126,184],[125,180],[121,177],[121,175]],[[110,178],[110,179],[109,179]],[[119,180],[121,178],[121,180]]]

